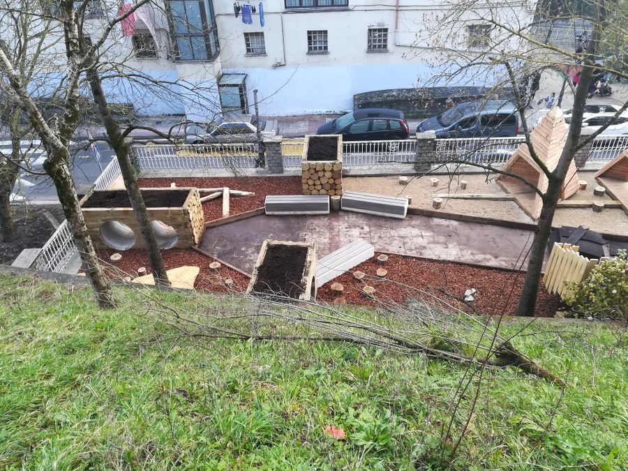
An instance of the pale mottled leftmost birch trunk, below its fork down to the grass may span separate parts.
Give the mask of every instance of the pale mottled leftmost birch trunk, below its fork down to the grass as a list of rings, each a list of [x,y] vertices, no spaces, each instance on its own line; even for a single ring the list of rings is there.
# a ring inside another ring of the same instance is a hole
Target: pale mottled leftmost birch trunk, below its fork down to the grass
[[[89,232],[87,232],[87,225],[85,225],[85,219],[79,205],[72,173],[68,167],[66,156],[61,155],[63,151],[65,149],[57,150],[55,151],[57,155],[49,156],[44,162],[44,169],[57,188],[63,214],[65,214],[70,230],[72,230],[75,244],[83,262],[83,269],[87,272],[87,278],[94,289],[98,306],[100,308],[114,308],[116,302],[111,284],[105,276],[103,267],[98,263],[98,255],[96,255],[94,244],[92,244]]]

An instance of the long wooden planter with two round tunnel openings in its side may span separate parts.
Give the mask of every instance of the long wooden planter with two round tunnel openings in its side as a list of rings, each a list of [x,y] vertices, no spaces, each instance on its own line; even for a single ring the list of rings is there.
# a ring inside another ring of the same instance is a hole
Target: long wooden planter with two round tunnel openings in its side
[[[196,188],[145,188],[141,192],[160,248],[198,244],[204,215]],[[81,209],[97,247],[144,248],[126,190],[96,190],[82,201]]]

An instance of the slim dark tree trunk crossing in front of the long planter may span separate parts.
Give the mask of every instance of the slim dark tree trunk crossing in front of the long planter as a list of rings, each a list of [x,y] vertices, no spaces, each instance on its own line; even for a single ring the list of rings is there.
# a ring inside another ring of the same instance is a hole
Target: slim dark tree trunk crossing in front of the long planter
[[[155,284],[170,286],[155,232],[151,227],[146,205],[144,204],[144,198],[140,192],[140,186],[137,184],[137,177],[135,177],[135,172],[133,172],[133,167],[128,156],[128,145],[124,142],[118,122],[111,115],[109,104],[107,103],[107,98],[103,91],[103,84],[96,67],[91,67],[87,70],[87,80],[89,81],[94,101],[96,105],[98,105],[98,112],[100,112],[100,118],[103,119],[103,124],[107,130],[111,146],[118,157],[120,172],[124,180],[124,186],[126,186],[126,193],[128,193],[128,198],[133,208],[133,214],[135,214],[137,225],[140,227],[140,232],[142,233],[142,239],[144,239],[144,246],[148,253]]]

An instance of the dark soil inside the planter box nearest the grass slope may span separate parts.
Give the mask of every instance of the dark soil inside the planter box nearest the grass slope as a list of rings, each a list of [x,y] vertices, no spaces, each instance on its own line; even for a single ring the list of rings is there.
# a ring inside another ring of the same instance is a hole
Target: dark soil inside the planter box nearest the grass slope
[[[277,294],[299,299],[305,292],[301,284],[308,247],[269,244],[262,265],[257,269],[253,292]]]

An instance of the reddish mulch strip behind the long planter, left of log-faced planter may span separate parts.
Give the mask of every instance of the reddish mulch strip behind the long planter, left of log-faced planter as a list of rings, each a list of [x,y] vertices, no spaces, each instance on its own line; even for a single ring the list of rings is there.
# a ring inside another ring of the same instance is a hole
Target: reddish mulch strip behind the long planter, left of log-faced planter
[[[232,196],[229,198],[230,215],[241,214],[251,209],[264,207],[267,195],[300,195],[300,177],[224,177],[224,178],[152,178],[140,179],[142,188],[170,188],[170,184],[179,188],[222,188],[230,190],[252,191],[255,196]],[[209,193],[201,193],[201,197]],[[223,199],[216,198],[203,203],[205,222],[223,217]]]

